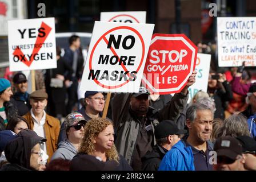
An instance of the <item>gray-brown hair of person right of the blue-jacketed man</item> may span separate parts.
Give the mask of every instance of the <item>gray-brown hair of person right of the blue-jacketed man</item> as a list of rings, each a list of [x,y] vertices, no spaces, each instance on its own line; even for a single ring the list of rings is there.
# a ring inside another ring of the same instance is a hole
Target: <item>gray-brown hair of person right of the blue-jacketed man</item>
[[[223,136],[249,136],[250,131],[245,116],[242,114],[233,114],[229,118],[225,119],[224,125],[221,129],[219,137]]]

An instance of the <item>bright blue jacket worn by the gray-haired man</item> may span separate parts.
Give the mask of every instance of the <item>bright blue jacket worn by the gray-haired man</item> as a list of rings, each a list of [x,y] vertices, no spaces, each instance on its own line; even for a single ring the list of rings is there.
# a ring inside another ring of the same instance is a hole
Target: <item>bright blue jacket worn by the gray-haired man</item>
[[[179,140],[163,157],[159,171],[195,171],[191,147]]]

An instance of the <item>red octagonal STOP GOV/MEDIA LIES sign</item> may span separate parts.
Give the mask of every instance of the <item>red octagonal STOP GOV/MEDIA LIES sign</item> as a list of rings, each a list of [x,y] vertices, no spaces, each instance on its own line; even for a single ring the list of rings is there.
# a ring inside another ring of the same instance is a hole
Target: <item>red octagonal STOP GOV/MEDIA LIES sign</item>
[[[184,34],[154,34],[142,83],[154,94],[178,93],[195,69],[197,47]]]

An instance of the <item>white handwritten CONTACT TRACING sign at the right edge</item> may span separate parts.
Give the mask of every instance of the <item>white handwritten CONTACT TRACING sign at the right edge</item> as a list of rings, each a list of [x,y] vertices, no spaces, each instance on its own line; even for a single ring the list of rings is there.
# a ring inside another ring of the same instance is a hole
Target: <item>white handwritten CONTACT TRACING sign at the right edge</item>
[[[219,67],[256,65],[256,17],[217,17]]]

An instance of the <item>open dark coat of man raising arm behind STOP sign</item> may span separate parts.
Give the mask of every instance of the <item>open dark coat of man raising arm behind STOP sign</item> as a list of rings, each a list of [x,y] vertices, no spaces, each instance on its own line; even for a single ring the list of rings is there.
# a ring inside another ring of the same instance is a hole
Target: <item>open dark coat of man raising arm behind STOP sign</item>
[[[149,107],[146,117],[150,121],[153,130],[153,146],[157,144],[154,137],[154,127],[165,119],[176,122],[183,107],[186,105],[188,95],[189,94],[186,94],[185,96],[183,93],[175,94],[169,104],[166,104],[165,107],[159,111],[153,107]],[[112,118],[115,133],[117,133],[115,145],[117,146],[119,154],[123,155],[129,164],[131,164],[137,136],[139,129],[141,129],[141,126],[139,126],[141,122],[138,118],[134,118],[129,111],[130,97],[131,94],[115,94],[111,101],[113,110]]]

